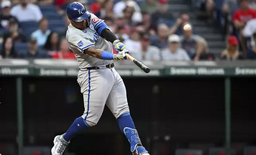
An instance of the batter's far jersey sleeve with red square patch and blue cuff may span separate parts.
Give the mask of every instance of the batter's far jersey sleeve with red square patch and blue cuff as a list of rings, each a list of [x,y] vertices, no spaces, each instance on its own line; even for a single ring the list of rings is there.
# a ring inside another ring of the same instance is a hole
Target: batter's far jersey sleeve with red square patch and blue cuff
[[[93,13],[91,13],[91,24],[93,25],[94,30],[96,30],[99,35],[101,35],[101,32],[104,28],[108,28],[110,30],[109,26],[107,26],[104,20],[99,19]]]

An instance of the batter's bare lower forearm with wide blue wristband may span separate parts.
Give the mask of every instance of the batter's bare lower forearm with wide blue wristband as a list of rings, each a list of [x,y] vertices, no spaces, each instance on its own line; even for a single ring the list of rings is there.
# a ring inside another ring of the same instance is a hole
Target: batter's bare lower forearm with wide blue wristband
[[[95,47],[89,47],[88,49],[85,49],[83,53],[88,54],[92,57],[102,59],[102,60],[113,60],[114,59],[114,54],[103,51],[101,49],[96,49]]]

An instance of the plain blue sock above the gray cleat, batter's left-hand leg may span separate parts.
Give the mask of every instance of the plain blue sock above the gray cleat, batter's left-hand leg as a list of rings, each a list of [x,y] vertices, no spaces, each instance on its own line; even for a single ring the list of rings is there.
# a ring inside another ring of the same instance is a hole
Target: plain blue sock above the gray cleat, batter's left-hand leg
[[[69,127],[68,131],[64,134],[64,140],[69,142],[72,137],[78,134],[78,132],[80,132],[81,130],[85,129],[85,127],[89,127],[87,122],[82,117],[78,117]]]

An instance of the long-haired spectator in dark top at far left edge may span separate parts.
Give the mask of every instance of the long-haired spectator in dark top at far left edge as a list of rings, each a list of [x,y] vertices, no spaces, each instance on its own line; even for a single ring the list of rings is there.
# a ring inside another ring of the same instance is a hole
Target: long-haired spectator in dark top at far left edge
[[[2,50],[0,53],[0,59],[1,58],[16,58],[16,51],[14,50],[14,43],[12,38],[6,38],[5,42],[3,43]]]

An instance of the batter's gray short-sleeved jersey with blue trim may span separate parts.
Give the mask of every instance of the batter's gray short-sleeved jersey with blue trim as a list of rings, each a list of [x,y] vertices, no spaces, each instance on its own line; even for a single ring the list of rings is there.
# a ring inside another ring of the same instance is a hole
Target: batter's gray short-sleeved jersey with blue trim
[[[71,23],[68,26],[66,39],[68,40],[69,48],[76,55],[79,68],[106,65],[112,62],[112,60],[101,60],[91,57],[90,55],[83,54],[83,50],[91,46],[113,53],[112,43],[99,36],[95,30],[95,28],[102,22],[104,21],[91,13],[90,25],[84,30],[75,28]]]

